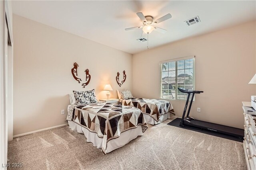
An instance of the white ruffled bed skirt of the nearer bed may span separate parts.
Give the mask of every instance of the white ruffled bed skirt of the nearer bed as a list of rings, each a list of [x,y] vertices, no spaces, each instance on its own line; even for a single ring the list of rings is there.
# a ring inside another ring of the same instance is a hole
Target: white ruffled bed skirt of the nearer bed
[[[102,148],[102,142],[103,138],[98,137],[97,133],[90,132],[85,127],[82,127],[81,125],[78,125],[74,121],[68,121],[69,128],[73,131],[77,131],[78,133],[84,134],[84,136],[87,139],[87,142],[91,142],[94,147],[97,147],[98,149]],[[108,141],[108,149],[106,150],[106,153],[109,153],[115,149],[118,149],[120,147],[123,147],[133,139],[136,139],[138,136],[142,136],[142,126],[138,125],[137,128],[129,129],[128,131],[124,131],[120,134],[120,136],[116,139],[112,139]]]

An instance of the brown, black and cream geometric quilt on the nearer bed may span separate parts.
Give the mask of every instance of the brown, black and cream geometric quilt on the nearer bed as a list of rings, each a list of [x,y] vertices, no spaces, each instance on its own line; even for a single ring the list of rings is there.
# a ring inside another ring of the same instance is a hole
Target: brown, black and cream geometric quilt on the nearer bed
[[[139,125],[143,133],[148,128],[140,109],[103,102],[71,105],[67,120],[74,121],[103,138],[104,154],[108,149],[108,141],[118,138],[122,132],[137,128]]]

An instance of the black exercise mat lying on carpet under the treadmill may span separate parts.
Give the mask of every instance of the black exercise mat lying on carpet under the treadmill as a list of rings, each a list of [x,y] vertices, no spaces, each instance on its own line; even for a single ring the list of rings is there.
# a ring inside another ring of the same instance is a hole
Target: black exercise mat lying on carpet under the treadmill
[[[194,129],[194,128],[190,128],[190,127],[181,127],[180,126],[180,121],[181,121],[181,118],[176,118],[173,121],[169,122],[167,125],[180,127],[182,129],[188,129],[188,130],[191,130],[191,131],[196,131],[196,132],[200,132],[200,133],[204,133],[204,134],[208,134],[208,135],[212,135],[212,136],[216,136],[216,137],[230,139],[232,141],[243,142],[243,139],[239,139],[239,138],[236,138],[236,137],[233,137],[233,136],[230,136],[230,135],[225,135],[225,134],[222,134],[222,133],[216,133],[216,132],[202,130],[202,129]]]

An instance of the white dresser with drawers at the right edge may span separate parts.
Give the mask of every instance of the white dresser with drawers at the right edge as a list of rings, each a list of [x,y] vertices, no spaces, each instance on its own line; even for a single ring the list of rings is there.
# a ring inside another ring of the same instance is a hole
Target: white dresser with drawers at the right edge
[[[248,170],[256,169],[256,116],[244,113],[244,153]]]

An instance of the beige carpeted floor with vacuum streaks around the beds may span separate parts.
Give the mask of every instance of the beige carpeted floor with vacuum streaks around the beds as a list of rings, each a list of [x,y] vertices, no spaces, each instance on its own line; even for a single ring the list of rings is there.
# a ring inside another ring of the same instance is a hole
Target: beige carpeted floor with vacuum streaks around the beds
[[[17,137],[8,143],[9,163],[22,163],[25,170],[247,169],[242,143],[169,122],[148,125],[142,137],[106,155],[68,126]]]

